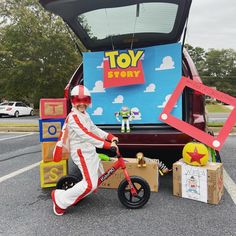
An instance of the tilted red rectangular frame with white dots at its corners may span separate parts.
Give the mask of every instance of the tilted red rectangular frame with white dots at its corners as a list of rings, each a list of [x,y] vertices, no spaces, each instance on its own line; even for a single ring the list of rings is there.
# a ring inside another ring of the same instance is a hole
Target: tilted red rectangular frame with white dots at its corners
[[[210,134],[207,134],[206,132],[190,125],[189,123],[186,123],[180,119],[177,119],[176,117],[170,114],[178,98],[183,93],[183,90],[185,87],[189,87],[202,94],[216,98],[217,100],[221,102],[224,102],[233,106],[233,110],[230,113],[228,119],[226,120],[224,126],[220,130],[218,136],[214,137]],[[167,123],[168,125],[180,130],[181,132],[189,135],[190,137],[197,139],[198,141],[206,144],[207,146],[210,146],[214,148],[215,150],[220,151],[226,138],[228,137],[230,131],[232,130],[234,124],[236,123],[236,98],[228,94],[219,92],[199,82],[195,82],[189,78],[182,77],[176,89],[174,90],[172,96],[167,102],[165,108],[160,114],[159,119]]]

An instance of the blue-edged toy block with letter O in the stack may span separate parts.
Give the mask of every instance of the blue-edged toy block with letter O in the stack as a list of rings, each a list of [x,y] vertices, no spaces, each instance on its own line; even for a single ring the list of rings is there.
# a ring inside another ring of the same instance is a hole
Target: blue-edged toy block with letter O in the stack
[[[57,141],[65,119],[39,120],[40,142]]]

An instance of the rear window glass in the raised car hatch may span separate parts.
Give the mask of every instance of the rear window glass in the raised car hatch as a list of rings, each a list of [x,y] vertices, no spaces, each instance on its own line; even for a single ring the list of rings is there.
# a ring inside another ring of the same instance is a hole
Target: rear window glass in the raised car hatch
[[[132,33],[170,33],[178,5],[173,3],[142,3],[125,7],[90,11],[78,21],[92,39]]]

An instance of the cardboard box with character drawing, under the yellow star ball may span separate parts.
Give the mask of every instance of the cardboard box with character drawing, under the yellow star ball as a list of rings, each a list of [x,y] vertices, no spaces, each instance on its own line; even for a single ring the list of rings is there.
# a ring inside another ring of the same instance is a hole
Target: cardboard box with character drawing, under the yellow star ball
[[[190,166],[179,160],[173,164],[173,194],[210,204],[218,204],[224,193],[222,163]]]

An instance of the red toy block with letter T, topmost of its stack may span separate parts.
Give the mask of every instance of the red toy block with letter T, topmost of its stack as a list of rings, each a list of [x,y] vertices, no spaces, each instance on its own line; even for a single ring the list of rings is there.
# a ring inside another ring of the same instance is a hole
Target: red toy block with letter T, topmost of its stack
[[[40,118],[54,119],[67,116],[66,98],[43,98],[40,99]]]

